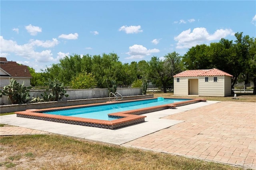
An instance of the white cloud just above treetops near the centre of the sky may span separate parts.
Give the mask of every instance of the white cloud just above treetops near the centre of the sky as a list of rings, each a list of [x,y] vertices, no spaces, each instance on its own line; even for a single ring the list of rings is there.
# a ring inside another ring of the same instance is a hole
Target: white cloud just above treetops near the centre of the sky
[[[143,45],[137,45],[134,44],[129,47],[129,52],[126,54],[131,55],[130,57],[127,57],[126,59],[142,59],[145,57],[145,55],[150,55],[151,53],[158,53],[159,49],[147,49]]]

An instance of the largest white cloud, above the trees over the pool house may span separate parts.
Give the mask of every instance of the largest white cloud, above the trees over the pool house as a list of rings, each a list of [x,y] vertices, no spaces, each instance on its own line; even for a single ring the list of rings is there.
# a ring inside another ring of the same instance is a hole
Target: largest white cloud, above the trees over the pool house
[[[233,36],[234,32],[231,29],[220,29],[214,34],[209,34],[206,28],[194,28],[192,32],[190,29],[181,32],[174,37],[174,40],[178,42],[176,48],[190,48],[205,42],[220,40],[228,35]]]

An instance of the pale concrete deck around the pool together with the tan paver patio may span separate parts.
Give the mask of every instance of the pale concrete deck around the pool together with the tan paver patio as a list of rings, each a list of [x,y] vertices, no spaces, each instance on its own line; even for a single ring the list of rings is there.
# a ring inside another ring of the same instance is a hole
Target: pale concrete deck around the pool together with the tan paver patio
[[[146,122],[116,130],[16,115],[1,116],[0,122],[25,128],[26,133],[31,128],[256,169],[256,103],[207,101],[144,115]],[[4,128],[8,127],[0,127],[0,135],[8,135]]]

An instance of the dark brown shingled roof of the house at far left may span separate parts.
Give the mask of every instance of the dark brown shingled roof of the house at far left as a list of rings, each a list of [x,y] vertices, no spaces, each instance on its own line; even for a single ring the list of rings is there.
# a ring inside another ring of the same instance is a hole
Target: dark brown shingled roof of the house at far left
[[[6,58],[4,57],[0,57],[0,58],[1,58],[0,69],[6,73],[6,75],[1,75],[1,76],[32,78],[28,70],[28,66],[19,65],[14,61],[7,61]],[[7,62],[2,62],[2,61],[7,61]]]

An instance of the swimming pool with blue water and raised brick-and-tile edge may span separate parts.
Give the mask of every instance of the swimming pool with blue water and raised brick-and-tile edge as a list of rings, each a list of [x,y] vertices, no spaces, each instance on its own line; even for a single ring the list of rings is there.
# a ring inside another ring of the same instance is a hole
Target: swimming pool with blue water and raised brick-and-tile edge
[[[175,109],[175,107],[178,106],[197,103],[200,101],[205,100],[153,98],[133,101],[118,101],[114,103],[80,105],[73,107],[29,109],[15,113],[17,114],[17,117],[115,129],[144,122],[146,117],[142,115],[144,113],[170,108]],[[96,112],[91,114],[92,111]],[[100,116],[100,118],[97,116],[95,117],[95,115],[97,115],[95,113],[104,113],[104,118],[102,119],[102,116]],[[93,115],[93,117],[88,117],[88,115]]]

